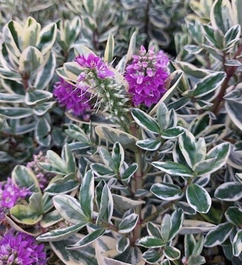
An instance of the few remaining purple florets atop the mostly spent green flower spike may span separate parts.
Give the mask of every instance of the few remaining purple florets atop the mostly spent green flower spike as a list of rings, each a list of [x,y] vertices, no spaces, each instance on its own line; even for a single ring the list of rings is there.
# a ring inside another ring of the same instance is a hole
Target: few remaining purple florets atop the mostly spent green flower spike
[[[99,56],[89,53],[87,57],[84,55],[78,55],[76,62],[87,69],[94,69],[99,78],[104,79],[107,77],[113,77],[114,72],[111,71],[108,66],[101,60]],[[77,78],[77,82],[83,81],[87,77],[88,71],[83,71]]]

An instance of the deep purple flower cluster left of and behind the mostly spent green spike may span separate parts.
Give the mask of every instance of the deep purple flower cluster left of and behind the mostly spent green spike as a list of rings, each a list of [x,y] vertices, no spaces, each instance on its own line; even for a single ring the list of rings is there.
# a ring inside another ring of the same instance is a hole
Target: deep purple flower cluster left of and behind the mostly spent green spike
[[[85,114],[90,109],[87,88],[75,88],[67,83],[63,78],[54,85],[54,96],[57,101],[71,110],[75,115],[82,115],[83,118],[88,118]]]

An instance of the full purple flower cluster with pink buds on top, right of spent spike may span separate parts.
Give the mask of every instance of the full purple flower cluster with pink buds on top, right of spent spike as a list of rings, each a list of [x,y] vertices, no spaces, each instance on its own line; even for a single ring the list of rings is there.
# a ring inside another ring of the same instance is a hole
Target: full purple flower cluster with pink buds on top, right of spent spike
[[[144,46],[141,46],[139,55],[133,55],[132,58],[125,74],[129,93],[135,105],[144,103],[149,107],[157,103],[166,91],[164,85],[168,77],[169,58],[163,51],[155,54],[154,47],[146,52]]]

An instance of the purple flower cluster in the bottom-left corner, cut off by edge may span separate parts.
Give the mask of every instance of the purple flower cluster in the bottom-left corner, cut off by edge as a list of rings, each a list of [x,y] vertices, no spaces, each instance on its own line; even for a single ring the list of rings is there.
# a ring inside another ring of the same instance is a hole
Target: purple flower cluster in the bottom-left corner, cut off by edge
[[[44,265],[46,261],[44,244],[28,234],[9,230],[0,239],[0,265]]]

